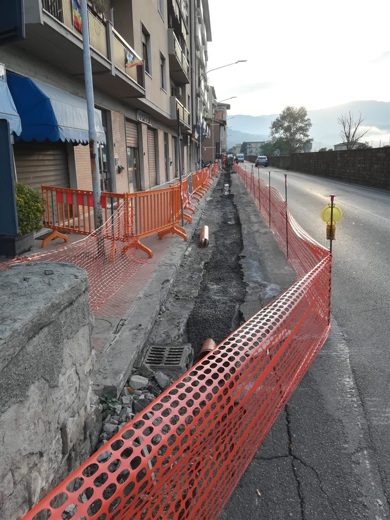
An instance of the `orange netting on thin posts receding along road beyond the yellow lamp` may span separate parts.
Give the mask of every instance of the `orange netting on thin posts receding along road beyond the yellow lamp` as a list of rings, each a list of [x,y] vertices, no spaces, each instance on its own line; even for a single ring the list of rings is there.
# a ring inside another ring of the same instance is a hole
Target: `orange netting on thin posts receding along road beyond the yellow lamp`
[[[274,231],[297,276],[304,276],[328,256],[329,251],[311,238],[296,222],[279,191],[268,186],[264,180],[255,179],[253,172],[246,172],[240,166],[237,166],[236,170],[266,223]]]

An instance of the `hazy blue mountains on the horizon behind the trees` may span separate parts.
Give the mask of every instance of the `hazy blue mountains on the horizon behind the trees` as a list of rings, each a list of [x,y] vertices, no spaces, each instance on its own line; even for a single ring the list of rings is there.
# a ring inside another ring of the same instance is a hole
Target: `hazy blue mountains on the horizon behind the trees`
[[[367,140],[374,148],[390,144],[390,101],[350,101],[343,105],[307,111],[307,115],[313,123],[310,128],[310,137],[314,139],[313,151],[323,147],[332,148],[333,145],[342,141],[341,126],[337,123],[337,118],[348,114],[348,111],[352,114],[354,121],[359,119],[361,113],[363,119],[361,127],[371,128],[363,136],[362,141]],[[278,115],[229,114],[228,148],[241,144],[243,141],[266,141],[269,139],[271,122]]]

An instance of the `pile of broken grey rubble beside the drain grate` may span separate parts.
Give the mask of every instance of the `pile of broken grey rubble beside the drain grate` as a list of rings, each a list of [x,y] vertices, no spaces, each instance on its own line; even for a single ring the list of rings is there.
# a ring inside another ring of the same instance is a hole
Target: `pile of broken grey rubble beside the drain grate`
[[[173,382],[163,372],[154,372],[146,363],[141,363],[139,368],[133,369],[133,374],[122,388],[118,399],[113,395],[103,395],[100,400],[103,425],[97,449],[106,444]]]

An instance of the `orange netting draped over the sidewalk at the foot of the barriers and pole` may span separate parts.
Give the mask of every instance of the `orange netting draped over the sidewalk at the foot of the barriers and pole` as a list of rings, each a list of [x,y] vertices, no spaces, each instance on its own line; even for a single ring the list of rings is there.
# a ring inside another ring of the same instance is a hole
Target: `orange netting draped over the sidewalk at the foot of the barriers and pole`
[[[118,210],[99,228],[82,240],[60,249],[15,258],[1,269],[22,262],[66,262],[87,271],[90,285],[89,305],[96,311],[108,298],[119,291],[148,261],[136,249],[133,230],[132,201],[123,202]],[[125,246],[127,251],[123,249]],[[142,255],[144,258],[139,257]]]

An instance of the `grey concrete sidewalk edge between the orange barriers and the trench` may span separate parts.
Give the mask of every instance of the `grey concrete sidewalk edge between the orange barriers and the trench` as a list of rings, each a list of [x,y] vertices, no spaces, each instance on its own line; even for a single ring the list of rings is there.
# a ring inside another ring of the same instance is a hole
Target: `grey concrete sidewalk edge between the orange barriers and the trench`
[[[200,200],[192,223],[185,223],[188,241],[176,235],[142,239],[153,251],[135,276],[94,313],[92,343],[96,352],[93,380],[98,392],[120,393],[131,374],[135,359],[164,303],[176,273],[217,183]]]

